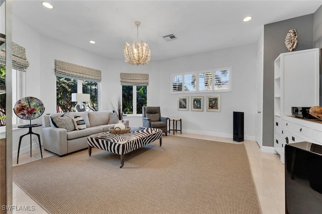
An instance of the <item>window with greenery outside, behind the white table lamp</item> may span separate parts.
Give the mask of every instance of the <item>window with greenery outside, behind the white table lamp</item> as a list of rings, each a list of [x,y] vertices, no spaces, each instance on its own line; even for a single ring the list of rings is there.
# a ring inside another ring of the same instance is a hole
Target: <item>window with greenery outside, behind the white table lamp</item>
[[[82,91],[78,91],[78,85]],[[98,110],[98,82],[83,81],[67,77],[56,77],[57,112],[75,112],[75,103],[71,101],[71,93],[89,93],[91,101],[87,103],[93,110]]]

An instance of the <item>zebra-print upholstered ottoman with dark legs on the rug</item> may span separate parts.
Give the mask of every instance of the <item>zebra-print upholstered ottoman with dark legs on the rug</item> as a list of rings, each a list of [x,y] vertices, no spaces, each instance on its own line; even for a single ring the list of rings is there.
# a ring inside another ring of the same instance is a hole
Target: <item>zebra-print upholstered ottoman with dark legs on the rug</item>
[[[160,140],[162,145],[162,130],[155,128],[132,127],[128,134],[112,134],[102,132],[88,136],[89,155],[92,148],[102,149],[121,156],[121,166],[124,165],[124,155],[153,141]]]

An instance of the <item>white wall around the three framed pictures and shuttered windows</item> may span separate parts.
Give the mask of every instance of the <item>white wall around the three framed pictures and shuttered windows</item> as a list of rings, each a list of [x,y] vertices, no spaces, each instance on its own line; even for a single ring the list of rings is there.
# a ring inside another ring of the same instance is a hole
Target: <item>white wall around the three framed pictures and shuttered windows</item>
[[[246,139],[255,140],[257,44],[160,61],[159,96],[163,116],[181,118],[183,131],[232,138],[232,112],[245,113]],[[231,66],[231,92],[170,93],[171,74]],[[161,84],[162,83],[162,84]],[[177,110],[177,97],[220,95],[221,112]]]

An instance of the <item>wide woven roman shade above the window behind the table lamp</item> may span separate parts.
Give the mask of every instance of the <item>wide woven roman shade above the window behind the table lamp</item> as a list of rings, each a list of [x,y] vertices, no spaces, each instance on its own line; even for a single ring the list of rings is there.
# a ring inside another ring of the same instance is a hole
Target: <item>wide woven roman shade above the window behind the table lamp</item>
[[[55,75],[71,79],[81,79],[91,82],[101,82],[101,71],[81,65],[75,65],[55,59]]]

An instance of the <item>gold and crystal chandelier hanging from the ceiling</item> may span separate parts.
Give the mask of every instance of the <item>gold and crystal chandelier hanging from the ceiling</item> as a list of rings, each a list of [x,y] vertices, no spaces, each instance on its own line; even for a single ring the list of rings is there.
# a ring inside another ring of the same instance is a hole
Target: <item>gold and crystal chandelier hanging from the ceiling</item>
[[[145,65],[151,61],[151,51],[149,45],[145,42],[138,40],[140,22],[135,22],[136,25],[136,44],[134,41],[125,43],[124,58],[125,62],[131,65]]]

